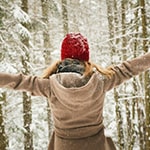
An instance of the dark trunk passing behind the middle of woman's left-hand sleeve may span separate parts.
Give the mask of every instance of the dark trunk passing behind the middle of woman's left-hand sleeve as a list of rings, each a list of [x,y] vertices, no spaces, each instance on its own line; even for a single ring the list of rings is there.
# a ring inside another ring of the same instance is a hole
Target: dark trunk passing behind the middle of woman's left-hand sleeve
[[[22,0],[22,10],[26,13],[28,13],[28,0]],[[28,29],[27,23],[22,23],[22,25]],[[27,49],[29,48],[29,38],[28,37],[22,37],[22,43],[24,44],[24,47],[22,50],[24,51],[24,56],[21,57],[22,65],[23,65],[23,74],[29,74],[29,52]],[[31,96],[29,96],[26,92],[23,92],[23,119],[24,119],[24,150],[33,150],[33,137],[32,132],[30,130],[30,125],[32,123],[32,110],[31,110]]]

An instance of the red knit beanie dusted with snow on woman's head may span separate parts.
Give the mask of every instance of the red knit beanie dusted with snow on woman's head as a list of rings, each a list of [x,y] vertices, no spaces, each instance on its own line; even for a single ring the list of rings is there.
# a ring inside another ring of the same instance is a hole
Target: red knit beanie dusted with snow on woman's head
[[[64,38],[61,46],[61,59],[65,58],[89,60],[89,45],[87,39],[80,33],[70,33]]]

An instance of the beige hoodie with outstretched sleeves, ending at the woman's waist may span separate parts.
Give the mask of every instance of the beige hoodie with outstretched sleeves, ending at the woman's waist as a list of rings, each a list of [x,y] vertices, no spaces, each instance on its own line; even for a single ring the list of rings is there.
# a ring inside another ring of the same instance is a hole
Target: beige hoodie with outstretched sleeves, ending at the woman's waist
[[[102,112],[106,92],[149,68],[150,53],[147,53],[114,66],[115,73],[111,79],[98,72],[87,83],[77,73],[54,74],[49,79],[0,73],[0,87],[48,97],[55,133],[66,139],[79,139],[92,136],[103,128]]]

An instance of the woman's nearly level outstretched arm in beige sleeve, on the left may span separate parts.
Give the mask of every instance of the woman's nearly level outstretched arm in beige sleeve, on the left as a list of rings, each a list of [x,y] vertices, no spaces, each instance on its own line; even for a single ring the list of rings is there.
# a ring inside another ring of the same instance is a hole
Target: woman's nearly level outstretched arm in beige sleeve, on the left
[[[50,95],[50,80],[23,74],[0,73],[0,88],[31,92],[34,96]]]

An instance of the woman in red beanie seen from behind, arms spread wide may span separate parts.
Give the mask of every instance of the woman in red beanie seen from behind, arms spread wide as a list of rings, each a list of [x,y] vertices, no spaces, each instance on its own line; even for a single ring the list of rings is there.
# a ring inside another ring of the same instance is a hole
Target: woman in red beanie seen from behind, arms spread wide
[[[0,73],[0,87],[29,91],[49,99],[54,130],[48,150],[115,150],[104,135],[103,103],[107,91],[150,68],[150,53],[102,69],[89,62],[89,46],[80,33],[67,34],[61,60],[42,78]]]

